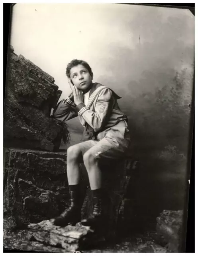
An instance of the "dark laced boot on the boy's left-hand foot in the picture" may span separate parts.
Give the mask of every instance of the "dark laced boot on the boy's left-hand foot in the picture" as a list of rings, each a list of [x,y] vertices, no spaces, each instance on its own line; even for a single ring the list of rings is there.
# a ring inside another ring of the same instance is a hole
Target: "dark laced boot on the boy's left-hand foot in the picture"
[[[79,191],[70,191],[70,207],[54,220],[54,225],[65,227],[68,224],[75,225],[81,220],[82,200]]]

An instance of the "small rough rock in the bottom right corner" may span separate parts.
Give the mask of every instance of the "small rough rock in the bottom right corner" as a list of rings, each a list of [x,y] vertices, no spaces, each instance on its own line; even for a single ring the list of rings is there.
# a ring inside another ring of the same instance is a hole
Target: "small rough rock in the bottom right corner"
[[[158,240],[170,252],[180,252],[183,210],[164,210],[157,217]]]

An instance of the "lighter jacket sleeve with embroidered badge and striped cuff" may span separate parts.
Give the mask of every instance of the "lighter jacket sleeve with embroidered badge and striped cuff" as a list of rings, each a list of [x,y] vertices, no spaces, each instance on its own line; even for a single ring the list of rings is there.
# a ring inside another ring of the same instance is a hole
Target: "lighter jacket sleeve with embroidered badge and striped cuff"
[[[84,103],[80,103],[76,106],[78,114],[84,118],[95,132],[102,129],[112,108],[113,97],[112,91],[109,88],[104,88],[99,92],[94,111],[87,108]]]

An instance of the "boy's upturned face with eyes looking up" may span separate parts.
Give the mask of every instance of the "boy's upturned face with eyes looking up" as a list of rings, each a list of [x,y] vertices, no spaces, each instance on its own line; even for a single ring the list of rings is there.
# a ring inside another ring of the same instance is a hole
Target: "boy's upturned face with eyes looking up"
[[[73,84],[80,90],[86,90],[93,79],[93,76],[91,76],[88,70],[81,64],[71,68],[70,77]]]

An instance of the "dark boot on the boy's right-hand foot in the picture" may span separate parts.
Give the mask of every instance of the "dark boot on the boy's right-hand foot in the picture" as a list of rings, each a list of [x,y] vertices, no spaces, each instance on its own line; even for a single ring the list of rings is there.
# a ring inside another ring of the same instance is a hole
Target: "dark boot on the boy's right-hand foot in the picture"
[[[83,226],[95,228],[102,223],[102,200],[101,197],[93,197],[93,212],[80,222]]]

